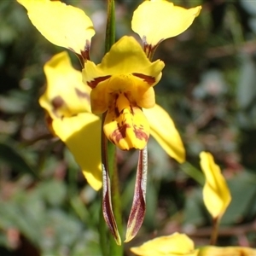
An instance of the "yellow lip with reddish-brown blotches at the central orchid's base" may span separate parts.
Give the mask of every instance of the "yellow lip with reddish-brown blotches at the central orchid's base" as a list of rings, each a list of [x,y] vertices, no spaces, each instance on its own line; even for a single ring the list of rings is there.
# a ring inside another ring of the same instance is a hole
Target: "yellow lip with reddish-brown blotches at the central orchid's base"
[[[108,139],[123,150],[143,149],[148,142],[148,120],[140,108],[131,108],[124,94],[108,110],[103,129]]]

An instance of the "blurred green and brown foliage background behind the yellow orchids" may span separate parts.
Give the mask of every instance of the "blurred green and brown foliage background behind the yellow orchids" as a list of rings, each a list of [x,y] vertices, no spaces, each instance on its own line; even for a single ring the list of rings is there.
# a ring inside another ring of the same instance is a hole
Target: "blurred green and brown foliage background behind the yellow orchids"
[[[175,231],[209,243],[199,153],[210,151],[228,180],[232,201],[218,245],[256,246],[256,0],[173,1],[202,5],[188,31],[160,44],[166,62],[155,87],[183,138],[178,165],[153,138],[148,143],[147,213],[137,246]],[[96,36],[90,57],[103,56],[106,1],[65,1],[86,11]],[[141,1],[116,1],[117,38],[131,31]],[[68,149],[53,137],[39,108],[44,62],[63,49],[32,26],[14,0],[0,0],[0,255],[101,255],[101,192],[86,183]],[[79,61],[70,53],[73,66]],[[84,152],[84,154],[86,154]],[[118,151],[124,225],[130,212],[137,152]]]

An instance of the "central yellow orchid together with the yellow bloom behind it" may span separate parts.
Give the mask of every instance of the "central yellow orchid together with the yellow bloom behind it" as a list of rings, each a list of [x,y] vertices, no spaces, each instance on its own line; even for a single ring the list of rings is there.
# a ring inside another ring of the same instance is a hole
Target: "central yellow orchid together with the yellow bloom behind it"
[[[155,104],[153,87],[160,81],[165,64],[152,61],[154,50],[161,41],[186,30],[201,7],[183,9],[166,0],[144,1],[132,20],[132,29],[143,39],[143,47],[135,38],[124,36],[96,65],[90,61],[90,42],[95,31],[83,10],[61,1],[17,1],[27,9],[32,24],[49,42],[71,49],[79,56],[82,73],[71,67],[66,53],[54,56],[45,65],[48,86],[40,104],[52,120],[55,135],[67,144],[90,185],[96,190],[102,188],[103,216],[118,244],[121,241],[113,216],[105,137],[123,150],[139,149],[125,239],[130,241],[145,215],[149,134],[178,162],[185,158],[183,143],[172,119]],[[152,15],[154,9],[157,13]],[[82,77],[84,85],[80,84]],[[102,130],[99,115],[102,115]],[[99,165],[100,148],[102,166]]]

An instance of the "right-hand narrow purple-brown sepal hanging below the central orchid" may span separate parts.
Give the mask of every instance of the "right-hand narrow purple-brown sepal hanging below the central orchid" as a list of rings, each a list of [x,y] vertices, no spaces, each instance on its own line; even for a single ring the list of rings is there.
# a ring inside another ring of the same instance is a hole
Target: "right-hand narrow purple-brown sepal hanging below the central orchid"
[[[148,149],[143,148],[139,152],[137,164],[137,176],[131,206],[131,212],[128,219],[125,242],[137,235],[138,230],[143,224],[143,219],[146,212],[146,188],[148,174]]]

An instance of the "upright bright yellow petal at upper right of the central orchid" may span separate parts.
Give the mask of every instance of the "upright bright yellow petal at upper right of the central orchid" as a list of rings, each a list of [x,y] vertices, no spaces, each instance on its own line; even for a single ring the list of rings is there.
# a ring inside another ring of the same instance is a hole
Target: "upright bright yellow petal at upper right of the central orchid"
[[[133,14],[131,28],[144,44],[154,46],[188,29],[200,10],[201,6],[184,9],[166,0],[144,1]]]

